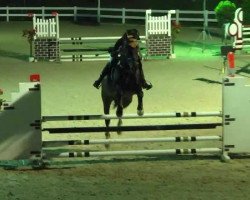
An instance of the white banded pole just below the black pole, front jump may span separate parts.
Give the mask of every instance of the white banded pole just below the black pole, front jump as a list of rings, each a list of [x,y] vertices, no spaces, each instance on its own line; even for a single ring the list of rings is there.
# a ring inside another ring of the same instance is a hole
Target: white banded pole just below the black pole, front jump
[[[126,144],[147,142],[196,142],[196,141],[221,141],[221,136],[183,136],[162,138],[127,138],[127,139],[98,139],[98,140],[55,140],[43,141],[43,147],[65,145],[93,145],[93,144]]]

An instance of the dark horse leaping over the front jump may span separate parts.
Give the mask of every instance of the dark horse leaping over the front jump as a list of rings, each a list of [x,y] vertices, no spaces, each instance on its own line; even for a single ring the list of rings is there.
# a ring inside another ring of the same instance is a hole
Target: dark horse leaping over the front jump
[[[132,102],[133,95],[137,95],[138,105],[137,114],[139,116],[144,114],[143,111],[143,91],[142,81],[140,76],[141,63],[129,62],[128,48],[122,48],[120,57],[115,67],[112,68],[111,73],[106,75],[101,83],[101,96],[103,102],[104,114],[110,114],[110,106],[114,103],[116,108],[116,116],[118,119],[118,126],[122,125],[123,109],[128,107]],[[138,53],[138,48],[130,49]],[[108,128],[110,119],[105,120],[105,125]],[[121,134],[121,131],[117,132]],[[110,138],[110,133],[105,132],[106,139]]]

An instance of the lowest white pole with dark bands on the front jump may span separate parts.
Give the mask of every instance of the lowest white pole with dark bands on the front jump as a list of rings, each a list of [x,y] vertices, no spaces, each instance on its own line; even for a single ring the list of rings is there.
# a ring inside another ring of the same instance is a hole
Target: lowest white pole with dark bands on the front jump
[[[135,156],[135,155],[181,155],[181,154],[220,154],[220,148],[199,148],[199,149],[166,149],[166,150],[133,150],[133,151],[100,151],[100,152],[63,152],[58,157],[92,157],[92,156]]]

